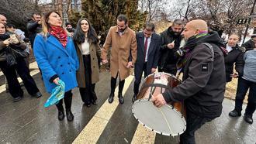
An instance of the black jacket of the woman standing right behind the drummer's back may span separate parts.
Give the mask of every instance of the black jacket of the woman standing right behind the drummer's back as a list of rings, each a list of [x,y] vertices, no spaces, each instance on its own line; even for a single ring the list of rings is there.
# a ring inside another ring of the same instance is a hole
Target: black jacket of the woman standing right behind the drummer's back
[[[232,47],[233,50],[231,50],[227,56],[225,57],[225,70],[226,70],[226,82],[230,82],[232,80],[232,77],[230,77],[230,74],[233,74],[234,72],[234,63],[235,63],[235,69],[238,72],[239,76],[243,75],[243,69],[244,69],[244,50],[240,46],[234,46]]]

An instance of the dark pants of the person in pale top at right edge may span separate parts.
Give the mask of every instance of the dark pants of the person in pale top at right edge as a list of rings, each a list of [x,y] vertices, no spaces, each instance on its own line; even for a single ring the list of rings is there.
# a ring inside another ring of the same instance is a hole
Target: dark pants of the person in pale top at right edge
[[[237,111],[242,111],[244,97],[249,88],[250,91],[248,95],[247,107],[245,109],[245,115],[252,116],[256,108],[256,83],[252,81],[247,81],[243,78],[238,78],[235,109]]]

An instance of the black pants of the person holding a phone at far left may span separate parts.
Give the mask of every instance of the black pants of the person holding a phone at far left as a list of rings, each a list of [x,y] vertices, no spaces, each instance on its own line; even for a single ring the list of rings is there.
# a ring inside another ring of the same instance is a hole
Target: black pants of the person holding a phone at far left
[[[26,66],[26,62],[23,58],[16,59],[17,64],[12,67],[8,67],[6,61],[0,62],[0,67],[2,72],[5,74],[7,83],[9,85],[9,92],[13,98],[23,96],[23,91],[20,87],[19,81],[17,79],[16,71],[19,77],[22,79],[24,86],[29,94],[33,95],[39,91],[36,86],[33,77],[29,74],[29,68]]]

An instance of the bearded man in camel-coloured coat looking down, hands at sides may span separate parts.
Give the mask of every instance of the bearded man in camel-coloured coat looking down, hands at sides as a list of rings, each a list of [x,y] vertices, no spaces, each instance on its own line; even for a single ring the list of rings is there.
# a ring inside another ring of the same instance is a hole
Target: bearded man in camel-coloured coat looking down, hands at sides
[[[116,79],[119,75],[119,103],[123,104],[123,86],[126,77],[130,75],[130,67],[137,58],[137,41],[135,32],[128,27],[126,15],[117,17],[117,26],[109,29],[108,36],[102,48],[102,64],[108,63],[107,55],[111,47],[110,72],[111,72],[111,93],[109,94],[109,103],[112,103]]]

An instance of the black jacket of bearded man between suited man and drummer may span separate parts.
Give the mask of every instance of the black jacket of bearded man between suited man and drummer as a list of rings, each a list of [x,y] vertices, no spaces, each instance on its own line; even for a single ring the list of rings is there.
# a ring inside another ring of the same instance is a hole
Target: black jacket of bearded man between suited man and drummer
[[[176,63],[178,61],[178,57],[176,57],[175,53],[178,50],[182,36],[173,33],[171,27],[164,30],[164,32],[160,33],[161,36],[161,46],[160,46],[160,59],[158,62],[158,67],[160,69],[166,68],[171,70],[176,70]],[[175,48],[168,49],[168,43],[172,43],[175,40]]]

